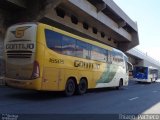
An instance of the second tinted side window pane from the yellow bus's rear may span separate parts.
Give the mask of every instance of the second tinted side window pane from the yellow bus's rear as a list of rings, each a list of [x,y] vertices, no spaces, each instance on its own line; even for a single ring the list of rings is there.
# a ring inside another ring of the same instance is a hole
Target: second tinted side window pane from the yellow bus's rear
[[[75,56],[76,39],[63,35],[62,54]]]

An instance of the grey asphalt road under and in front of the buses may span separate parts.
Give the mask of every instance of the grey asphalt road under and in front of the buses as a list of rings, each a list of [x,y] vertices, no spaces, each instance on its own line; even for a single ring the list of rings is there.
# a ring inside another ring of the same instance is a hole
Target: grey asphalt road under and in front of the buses
[[[127,87],[89,90],[65,97],[0,86],[1,114],[160,114],[160,82],[130,81]]]

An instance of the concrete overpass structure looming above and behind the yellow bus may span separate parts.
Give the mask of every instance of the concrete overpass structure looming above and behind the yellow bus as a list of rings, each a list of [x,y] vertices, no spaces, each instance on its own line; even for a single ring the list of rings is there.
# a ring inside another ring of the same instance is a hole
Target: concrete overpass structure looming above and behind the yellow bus
[[[137,24],[112,0],[1,0],[0,13],[1,74],[6,29],[19,22],[43,22],[124,52],[139,44]],[[142,63],[143,55],[132,51],[133,64]]]

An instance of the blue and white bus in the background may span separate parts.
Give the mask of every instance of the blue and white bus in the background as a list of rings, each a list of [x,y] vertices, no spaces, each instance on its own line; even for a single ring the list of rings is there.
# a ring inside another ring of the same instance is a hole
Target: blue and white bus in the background
[[[133,70],[133,80],[137,82],[155,82],[158,79],[158,69],[152,66],[136,66]]]

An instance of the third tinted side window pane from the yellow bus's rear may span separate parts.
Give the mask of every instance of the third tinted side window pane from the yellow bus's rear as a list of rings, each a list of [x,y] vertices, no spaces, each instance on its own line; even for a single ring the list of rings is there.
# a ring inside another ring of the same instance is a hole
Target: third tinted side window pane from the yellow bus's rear
[[[91,45],[83,41],[77,41],[76,43],[76,56],[82,58],[90,58]]]

